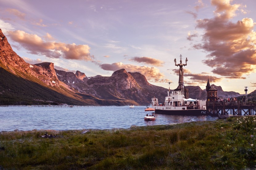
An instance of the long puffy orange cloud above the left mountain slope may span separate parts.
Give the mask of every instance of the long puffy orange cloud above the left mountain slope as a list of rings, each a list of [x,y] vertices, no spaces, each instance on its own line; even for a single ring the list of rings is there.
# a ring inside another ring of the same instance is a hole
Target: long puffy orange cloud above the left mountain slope
[[[36,34],[27,34],[24,31],[9,31],[10,38],[18,42],[28,53],[44,55],[50,58],[93,61],[88,45],[65,44],[61,42],[45,41]],[[51,37],[49,34],[47,37]]]

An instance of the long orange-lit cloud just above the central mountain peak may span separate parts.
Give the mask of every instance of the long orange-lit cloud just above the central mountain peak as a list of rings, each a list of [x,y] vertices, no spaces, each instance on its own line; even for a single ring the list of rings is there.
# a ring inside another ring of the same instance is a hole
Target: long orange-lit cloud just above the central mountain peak
[[[139,72],[147,77],[148,81],[162,81],[162,77],[164,77],[163,73],[160,73],[159,69],[155,67],[147,67],[147,66],[137,66],[131,64],[123,64],[122,62],[112,63],[112,64],[101,64],[99,65],[101,69],[116,71],[119,69],[126,69],[127,72]]]

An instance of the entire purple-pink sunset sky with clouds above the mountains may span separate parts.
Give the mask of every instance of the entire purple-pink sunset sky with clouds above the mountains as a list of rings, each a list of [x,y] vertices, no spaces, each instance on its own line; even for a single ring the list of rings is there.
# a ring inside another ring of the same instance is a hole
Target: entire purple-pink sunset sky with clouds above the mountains
[[[0,0],[0,29],[30,64],[88,77],[118,69],[153,84],[256,89],[255,0]]]

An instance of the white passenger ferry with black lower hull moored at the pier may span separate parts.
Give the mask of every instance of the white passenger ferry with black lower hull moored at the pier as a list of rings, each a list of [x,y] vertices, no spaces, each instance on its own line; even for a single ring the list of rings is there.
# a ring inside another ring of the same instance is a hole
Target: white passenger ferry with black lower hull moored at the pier
[[[206,111],[206,100],[185,99],[182,90],[167,92],[165,101],[158,103],[157,98],[152,98],[151,108],[156,114],[167,115],[202,115]]]

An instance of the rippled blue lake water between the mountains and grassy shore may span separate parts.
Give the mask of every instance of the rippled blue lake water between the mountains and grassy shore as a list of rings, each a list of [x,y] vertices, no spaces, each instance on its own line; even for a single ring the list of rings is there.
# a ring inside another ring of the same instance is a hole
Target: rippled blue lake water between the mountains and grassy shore
[[[191,121],[213,121],[211,116],[156,115],[155,121],[144,121],[145,106],[7,106],[0,107],[0,131],[33,129],[112,129],[131,125],[167,125]]]

